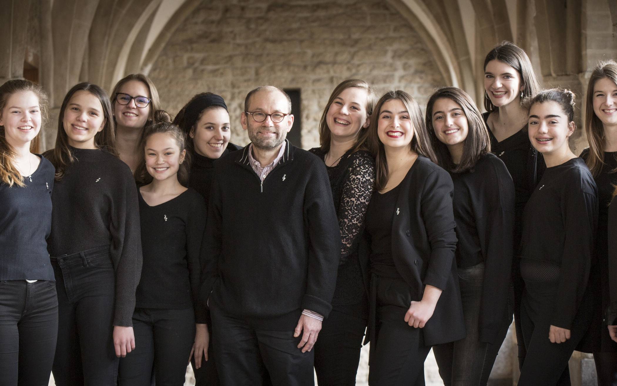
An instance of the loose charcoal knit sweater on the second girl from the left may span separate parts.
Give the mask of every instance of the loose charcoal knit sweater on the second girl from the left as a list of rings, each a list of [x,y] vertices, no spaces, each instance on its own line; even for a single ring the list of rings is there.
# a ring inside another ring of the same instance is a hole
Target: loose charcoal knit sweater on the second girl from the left
[[[54,183],[51,256],[109,245],[115,270],[114,325],[131,326],[141,274],[137,187],[129,167],[100,149],[70,148],[76,160]]]

